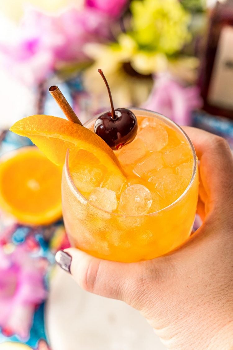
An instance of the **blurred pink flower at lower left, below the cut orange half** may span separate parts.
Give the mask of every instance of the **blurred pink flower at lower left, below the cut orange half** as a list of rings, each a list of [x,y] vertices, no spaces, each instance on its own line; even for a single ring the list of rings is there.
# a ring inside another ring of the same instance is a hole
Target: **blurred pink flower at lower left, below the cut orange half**
[[[3,334],[28,338],[35,307],[47,294],[43,284],[46,265],[45,259],[31,257],[27,245],[0,246],[0,327]]]

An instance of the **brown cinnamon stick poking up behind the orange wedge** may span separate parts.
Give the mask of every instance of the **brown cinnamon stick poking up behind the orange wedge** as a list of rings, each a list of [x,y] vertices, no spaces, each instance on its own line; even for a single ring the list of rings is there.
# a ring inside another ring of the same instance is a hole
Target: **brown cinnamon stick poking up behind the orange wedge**
[[[65,96],[60,91],[59,87],[56,85],[52,85],[49,88],[49,92],[51,93],[54,100],[57,102],[60,109],[65,114],[66,118],[68,120],[72,121],[72,123],[76,123],[76,124],[83,126],[81,121],[79,120],[79,118],[76,116],[76,114],[72,110],[70,104],[68,104]]]

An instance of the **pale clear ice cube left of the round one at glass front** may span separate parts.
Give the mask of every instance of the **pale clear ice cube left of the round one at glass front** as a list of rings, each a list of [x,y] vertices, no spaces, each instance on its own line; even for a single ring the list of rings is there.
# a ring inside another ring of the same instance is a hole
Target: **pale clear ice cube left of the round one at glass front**
[[[88,199],[89,202],[105,211],[112,212],[117,208],[116,193],[104,187],[95,187]]]

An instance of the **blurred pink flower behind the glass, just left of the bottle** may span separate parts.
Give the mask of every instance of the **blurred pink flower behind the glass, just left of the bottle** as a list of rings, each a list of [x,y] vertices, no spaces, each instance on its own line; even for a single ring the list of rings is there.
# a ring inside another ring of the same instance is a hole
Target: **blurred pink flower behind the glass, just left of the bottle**
[[[143,107],[175,121],[179,125],[191,124],[191,112],[202,106],[196,86],[184,87],[168,75],[155,78],[154,87]]]

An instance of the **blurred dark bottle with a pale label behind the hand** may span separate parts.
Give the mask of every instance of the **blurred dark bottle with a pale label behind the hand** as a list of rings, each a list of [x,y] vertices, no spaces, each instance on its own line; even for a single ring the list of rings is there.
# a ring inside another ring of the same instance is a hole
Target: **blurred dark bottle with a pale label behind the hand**
[[[233,118],[233,0],[210,12],[199,85],[205,111]]]

